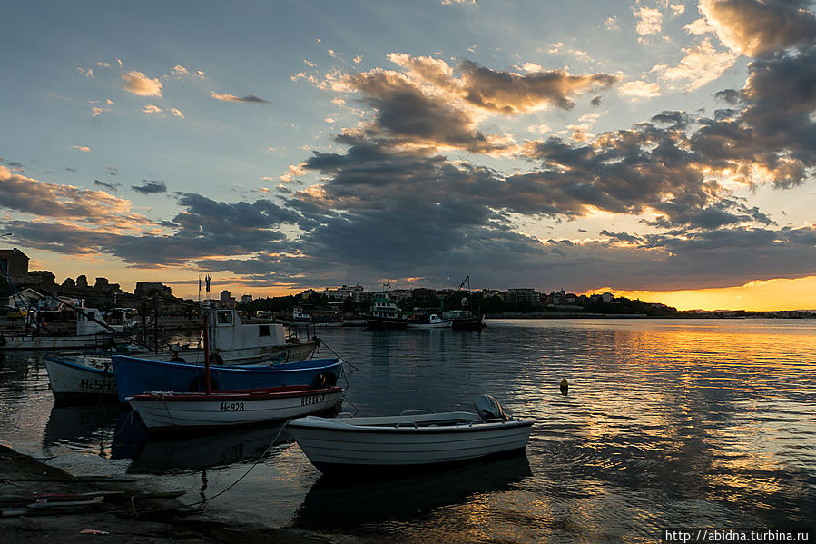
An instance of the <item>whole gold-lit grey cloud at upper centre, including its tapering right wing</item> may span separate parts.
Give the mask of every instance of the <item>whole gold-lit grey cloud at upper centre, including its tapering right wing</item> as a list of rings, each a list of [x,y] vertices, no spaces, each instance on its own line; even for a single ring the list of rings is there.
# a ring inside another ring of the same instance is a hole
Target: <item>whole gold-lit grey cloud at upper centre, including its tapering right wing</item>
[[[377,112],[364,137],[393,145],[451,146],[471,153],[507,147],[496,135],[477,130],[479,110],[516,115],[548,104],[571,109],[576,94],[606,89],[618,80],[610,74],[572,75],[558,70],[516,74],[471,61],[458,64],[461,75],[456,77],[454,69],[439,59],[407,54],[389,58],[406,73],[371,70],[343,76],[332,84],[338,90],[359,92],[360,102]],[[599,103],[596,97],[594,104]]]

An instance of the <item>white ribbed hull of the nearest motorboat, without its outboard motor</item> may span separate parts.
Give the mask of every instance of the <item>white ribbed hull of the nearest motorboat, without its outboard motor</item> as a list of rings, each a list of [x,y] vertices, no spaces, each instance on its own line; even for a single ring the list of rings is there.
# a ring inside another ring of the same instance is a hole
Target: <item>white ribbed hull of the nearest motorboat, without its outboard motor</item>
[[[288,425],[300,449],[323,472],[433,468],[511,454],[526,448],[532,425],[530,421],[510,420],[385,427],[341,421],[310,417]]]

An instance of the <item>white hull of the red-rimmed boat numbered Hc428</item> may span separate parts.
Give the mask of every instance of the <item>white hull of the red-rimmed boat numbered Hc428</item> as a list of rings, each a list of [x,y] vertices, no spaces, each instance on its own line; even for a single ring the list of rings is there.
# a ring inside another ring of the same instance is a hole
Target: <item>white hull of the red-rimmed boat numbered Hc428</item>
[[[285,387],[212,393],[149,393],[128,398],[149,432],[261,425],[337,410],[343,389]]]

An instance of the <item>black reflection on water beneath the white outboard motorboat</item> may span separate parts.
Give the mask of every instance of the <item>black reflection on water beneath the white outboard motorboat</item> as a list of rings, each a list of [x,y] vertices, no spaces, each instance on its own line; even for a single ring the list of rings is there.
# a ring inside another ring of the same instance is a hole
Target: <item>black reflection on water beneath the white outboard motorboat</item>
[[[381,480],[321,476],[298,508],[300,529],[352,531],[383,521],[420,519],[433,509],[478,502],[480,495],[513,489],[532,475],[525,455],[483,460],[443,471]]]

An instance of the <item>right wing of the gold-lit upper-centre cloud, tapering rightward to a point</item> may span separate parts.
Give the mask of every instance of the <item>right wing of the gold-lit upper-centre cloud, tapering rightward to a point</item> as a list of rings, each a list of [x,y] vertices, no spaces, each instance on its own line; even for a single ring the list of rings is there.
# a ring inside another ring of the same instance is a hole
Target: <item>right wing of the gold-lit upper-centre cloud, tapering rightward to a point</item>
[[[608,89],[620,79],[611,74],[572,75],[561,70],[521,75],[467,60],[458,67],[467,101],[504,114],[530,111],[542,104],[570,110],[575,107],[571,100],[574,94]]]

